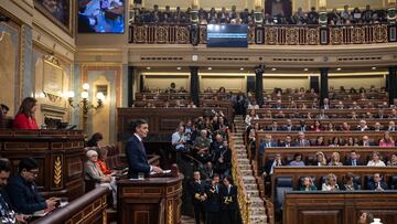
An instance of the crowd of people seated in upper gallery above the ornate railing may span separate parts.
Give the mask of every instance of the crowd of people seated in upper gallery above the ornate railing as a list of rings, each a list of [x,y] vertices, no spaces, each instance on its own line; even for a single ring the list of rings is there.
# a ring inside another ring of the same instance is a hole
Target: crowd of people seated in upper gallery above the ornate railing
[[[135,22],[142,23],[191,23],[191,8],[186,11],[182,11],[180,7],[175,10],[171,10],[170,6],[165,6],[164,10],[160,10],[159,6],[154,4],[152,10],[146,8],[137,8]],[[270,14],[261,11],[264,18],[264,24],[319,24],[319,11],[314,7],[310,11],[303,11],[302,8],[298,8],[291,17],[286,17],[283,13]],[[354,8],[350,10],[348,6],[344,6],[344,9],[339,12],[337,9],[332,9],[326,12],[328,24],[330,25],[348,25],[348,24],[371,24],[387,22],[386,10],[373,10],[371,6],[366,6],[365,10]],[[198,23],[200,24],[255,24],[255,11],[249,9],[238,10],[236,6],[232,6],[228,11],[225,7],[221,10],[211,8],[208,11],[203,8],[198,9]]]

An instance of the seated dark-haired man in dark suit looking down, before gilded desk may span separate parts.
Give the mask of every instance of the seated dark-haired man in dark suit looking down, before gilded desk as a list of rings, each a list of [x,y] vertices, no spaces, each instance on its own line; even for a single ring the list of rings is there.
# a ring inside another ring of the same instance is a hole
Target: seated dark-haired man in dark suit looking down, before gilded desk
[[[15,212],[33,214],[34,212],[55,209],[56,200],[44,200],[34,183],[39,175],[39,164],[33,158],[22,159],[18,166],[18,174],[12,177],[6,191]]]

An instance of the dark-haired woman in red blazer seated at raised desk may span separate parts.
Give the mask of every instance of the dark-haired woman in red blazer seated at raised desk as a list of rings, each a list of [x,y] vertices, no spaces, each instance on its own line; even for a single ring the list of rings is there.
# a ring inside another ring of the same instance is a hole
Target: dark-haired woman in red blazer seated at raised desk
[[[23,99],[21,107],[18,110],[12,127],[17,129],[39,129],[34,119],[34,111],[36,110],[36,99],[26,97]]]

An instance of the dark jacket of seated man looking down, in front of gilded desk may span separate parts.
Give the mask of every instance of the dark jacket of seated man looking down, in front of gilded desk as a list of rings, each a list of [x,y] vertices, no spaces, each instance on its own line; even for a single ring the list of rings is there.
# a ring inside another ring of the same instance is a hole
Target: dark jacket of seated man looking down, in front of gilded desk
[[[17,213],[33,214],[46,209],[45,200],[40,195],[36,185],[25,182],[21,175],[12,177],[6,191]]]

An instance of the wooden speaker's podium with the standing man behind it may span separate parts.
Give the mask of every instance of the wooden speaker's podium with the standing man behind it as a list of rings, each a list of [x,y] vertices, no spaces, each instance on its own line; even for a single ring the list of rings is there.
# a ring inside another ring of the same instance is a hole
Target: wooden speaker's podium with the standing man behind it
[[[119,224],[181,223],[183,174],[173,170],[167,175],[117,182]]]

